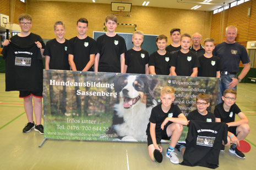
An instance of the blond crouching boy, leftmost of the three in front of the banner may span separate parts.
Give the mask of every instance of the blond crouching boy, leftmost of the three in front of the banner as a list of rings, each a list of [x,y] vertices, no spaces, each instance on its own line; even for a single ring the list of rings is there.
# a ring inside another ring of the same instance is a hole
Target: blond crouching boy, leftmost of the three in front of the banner
[[[148,135],[149,156],[154,160],[153,152],[155,149],[162,152],[161,139],[170,139],[170,145],[166,151],[166,156],[170,158],[172,163],[179,163],[175,153],[175,146],[181,137],[183,125],[187,125],[188,121],[182,114],[179,107],[172,103],[175,99],[175,88],[166,86],[161,89],[161,104],[155,106],[149,118],[146,134]]]

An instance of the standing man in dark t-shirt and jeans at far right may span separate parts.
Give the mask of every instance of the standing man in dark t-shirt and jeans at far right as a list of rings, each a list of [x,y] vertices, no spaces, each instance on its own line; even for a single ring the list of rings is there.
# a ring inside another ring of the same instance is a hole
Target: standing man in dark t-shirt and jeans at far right
[[[213,55],[220,58],[223,70],[221,71],[221,84],[219,103],[222,102],[221,97],[225,89],[232,88],[237,90],[237,84],[241,82],[244,76],[250,70],[250,60],[246,48],[235,41],[237,36],[237,27],[226,27],[226,41],[217,44],[213,51]],[[239,71],[240,60],[243,63],[243,70],[237,76]]]

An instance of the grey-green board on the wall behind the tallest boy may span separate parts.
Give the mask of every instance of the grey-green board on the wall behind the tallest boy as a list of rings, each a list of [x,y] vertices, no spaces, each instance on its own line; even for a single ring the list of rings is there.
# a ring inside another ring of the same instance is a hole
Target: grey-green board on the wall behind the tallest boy
[[[93,38],[96,40],[98,37],[104,35],[106,32],[103,31],[94,31]],[[132,42],[132,33],[119,33],[117,34],[121,37],[124,38],[126,41],[126,48],[131,49],[133,48],[133,42]],[[141,45],[141,48],[148,51],[149,55],[157,50],[156,46],[156,37],[158,35],[144,35],[144,41],[143,44]]]

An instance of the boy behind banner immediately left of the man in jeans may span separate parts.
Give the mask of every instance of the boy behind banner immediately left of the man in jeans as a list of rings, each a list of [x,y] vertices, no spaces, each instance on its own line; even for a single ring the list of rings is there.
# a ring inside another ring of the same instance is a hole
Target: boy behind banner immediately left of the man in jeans
[[[206,38],[204,41],[204,55],[198,57],[200,67],[198,67],[198,77],[220,78],[221,63],[220,58],[213,55],[215,40]]]

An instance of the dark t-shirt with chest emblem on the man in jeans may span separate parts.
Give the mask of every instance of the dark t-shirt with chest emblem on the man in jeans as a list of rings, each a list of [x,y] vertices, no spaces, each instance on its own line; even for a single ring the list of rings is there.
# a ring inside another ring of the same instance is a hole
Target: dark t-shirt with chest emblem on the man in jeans
[[[243,64],[250,62],[246,48],[237,42],[233,44],[226,42],[217,44],[213,50],[213,55],[220,58],[223,70],[228,72],[237,73],[239,71],[240,60]]]

